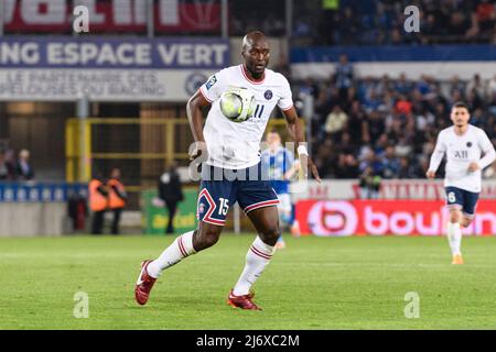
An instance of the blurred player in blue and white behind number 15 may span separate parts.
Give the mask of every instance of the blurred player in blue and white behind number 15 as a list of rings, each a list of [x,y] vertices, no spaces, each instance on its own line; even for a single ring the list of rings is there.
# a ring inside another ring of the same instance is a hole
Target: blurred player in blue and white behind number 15
[[[293,153],[282,146],[281,136],[274,130],[267,134],[266,142],[269,147],[261,154],[261,162],[269,170],[270,184],[279,198],[278,210],[279,221],[282,230],[292,231],[298,234],[296,227],[293,227],[292,204],[290,195],[291,177],[298,170],[298,162],[295,163]],[[276,243],[277,249],[284,249],[285,242],[280,235]]]

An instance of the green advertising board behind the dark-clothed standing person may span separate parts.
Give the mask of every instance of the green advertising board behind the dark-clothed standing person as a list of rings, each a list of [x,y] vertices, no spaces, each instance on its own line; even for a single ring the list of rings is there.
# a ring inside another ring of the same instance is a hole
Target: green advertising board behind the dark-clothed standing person
[[[174,231],[184,233],[196,229],[196,200],[198,191],[196,188],[183,189],[184,200],[179,204],[174,217]],[[164,234],[169,221],[165,206],[160,205],[157,190],[143,190],[141,193],[142,223],[145,234]]]

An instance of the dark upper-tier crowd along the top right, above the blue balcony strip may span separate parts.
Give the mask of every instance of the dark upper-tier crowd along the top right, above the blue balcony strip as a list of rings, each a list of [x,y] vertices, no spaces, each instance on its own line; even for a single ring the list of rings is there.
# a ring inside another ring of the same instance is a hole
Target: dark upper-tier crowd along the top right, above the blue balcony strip
[[[405,32],[409,6],[420,10],[420,33]],[[281,0],[233,3],[231,34],[284,35],[283,7]],[[294,1],[291,37],[299,45],[496,43],[495,0],[309,0]]]

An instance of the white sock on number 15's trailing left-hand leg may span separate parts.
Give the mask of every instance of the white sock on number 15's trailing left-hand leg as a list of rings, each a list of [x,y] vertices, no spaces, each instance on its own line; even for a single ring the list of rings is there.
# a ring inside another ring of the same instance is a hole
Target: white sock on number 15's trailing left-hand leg
[[[193,233],[194,231],[190,231],[176,238],[157,260],[148,265],[148,274],[151,277],[157,278],[168,267],[177,264],[191,254],[195,254],[196,251],[193,248]]]

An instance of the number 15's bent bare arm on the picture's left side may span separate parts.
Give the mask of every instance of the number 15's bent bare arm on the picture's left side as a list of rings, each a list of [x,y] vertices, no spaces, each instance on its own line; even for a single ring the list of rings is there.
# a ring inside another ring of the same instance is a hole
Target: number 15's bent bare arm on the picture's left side
[[[200,89],[190,98],[186,105],[187,120],[190,121],[191,132],[195,139],[195,147],[192,148],[190,160],[193,161],[200,155],[205,154],[206,143],[203,136],[203,112],[202,109],[211,103],[205,99]]]

